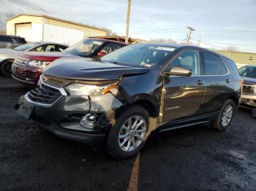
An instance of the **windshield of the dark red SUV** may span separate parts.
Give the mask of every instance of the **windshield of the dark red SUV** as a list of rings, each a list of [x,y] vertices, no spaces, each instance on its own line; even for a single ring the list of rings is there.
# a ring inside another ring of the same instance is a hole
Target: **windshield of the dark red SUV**
[[[78,43],[73,44],[71,47],[64,50],[64,52],[85,56],[97,50],[97,48],[102,43],[103,43],[102,41],[98,41],[98,40],[85,39]]]

